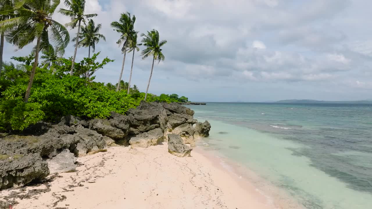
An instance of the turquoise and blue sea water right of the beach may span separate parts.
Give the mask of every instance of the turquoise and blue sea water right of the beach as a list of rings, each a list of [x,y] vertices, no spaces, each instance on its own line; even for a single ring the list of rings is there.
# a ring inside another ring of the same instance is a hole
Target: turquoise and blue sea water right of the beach
[[[372,105],[208,103],[204,149],[246,165],[308,209],[372,208]]]

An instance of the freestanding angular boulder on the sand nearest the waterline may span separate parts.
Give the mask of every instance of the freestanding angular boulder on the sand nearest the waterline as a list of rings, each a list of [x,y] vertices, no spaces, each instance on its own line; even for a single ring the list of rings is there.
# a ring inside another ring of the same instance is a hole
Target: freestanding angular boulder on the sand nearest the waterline
[[[177,157],[190,157],[192,148],[183,144],[179,134],[168,134],[168,152]]]

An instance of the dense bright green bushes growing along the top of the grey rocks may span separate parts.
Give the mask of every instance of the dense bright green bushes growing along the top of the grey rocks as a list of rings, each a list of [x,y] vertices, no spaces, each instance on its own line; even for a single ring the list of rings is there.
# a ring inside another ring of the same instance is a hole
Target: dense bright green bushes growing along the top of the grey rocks
[[[107,118],[111,111],[125,114],[144,99],[137,86],[127,94],[128,83],[122,81],[122,89],[115,91],[116,85],[94,82],[94,72],[113,60],[104,58],[97,62],[99,53],[92,58],[84,58],[74,66],[73,76],[69,75],[71,60],[61,58],[51,68],[41,64],[36,68],[29,102],[24,103],[33,55],[13,57],[22,62],[15,65],[4,63],[0,78],[0,129],[24,129],[39,120],[54,121],[64,115],[87,118]],[[186,97],[177,94],[147,95],[147,101],[186,102]]]

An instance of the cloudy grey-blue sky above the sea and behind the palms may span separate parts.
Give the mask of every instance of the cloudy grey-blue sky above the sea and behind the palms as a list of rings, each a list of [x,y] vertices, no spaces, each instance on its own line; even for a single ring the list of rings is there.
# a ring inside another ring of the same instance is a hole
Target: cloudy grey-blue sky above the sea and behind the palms
[[[106,36],[96,44],[99,60],[115,60],[97,71],[95,81],[118,82],[123,55],[110,23],[129,12],[137,18],[136,31],[157,29],[167,40],[150,93],[200,102],[372,100],[371,8],[366,0],[86,0],[86,13],[98,14],[93,20]],[[70,22],[57,12],[53,19]],[[76,31],[70,30],[71,39]],[[73,55],[73,45],[64,57]],[[15,52],[6,44],[3,59],[27,55],[32,47]],[[77,53],[80,61],[88,49]],[[131,59],[126,57],[125,81]],[[135,52],[131,83],[141,91],[151,61]]]

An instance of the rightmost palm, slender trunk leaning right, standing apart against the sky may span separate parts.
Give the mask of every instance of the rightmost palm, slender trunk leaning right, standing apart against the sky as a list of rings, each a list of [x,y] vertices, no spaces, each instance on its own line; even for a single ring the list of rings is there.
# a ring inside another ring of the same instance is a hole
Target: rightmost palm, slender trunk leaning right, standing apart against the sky
[[[145,94],[145,99],[144,99],[146,101],[148,87],[150,86],[151,76],[153,75],[154,62],[155,60],[157,60],[158,62],[160,62],[161,60],[164,61],[165,57],[163,53],[161,52],[162,49],[160,47],[166,44],[167,41],[162,40],[159,42],[159,32],[155,29],[151,30],[150,32],[147,31],[147,35],[142,33],[141,36],[144,37],[141,42],[143,43],[144,46],[147,47],[141,53],[142,60],[144,60],[150,55],[153,56],[153,65],[151,67],[150,78],[148,78],[148,84],[147,84],[147,89],[146,89],[146,94]]]

